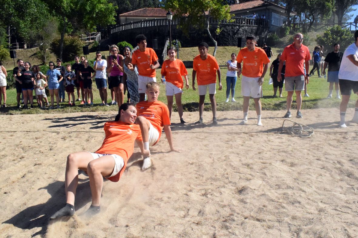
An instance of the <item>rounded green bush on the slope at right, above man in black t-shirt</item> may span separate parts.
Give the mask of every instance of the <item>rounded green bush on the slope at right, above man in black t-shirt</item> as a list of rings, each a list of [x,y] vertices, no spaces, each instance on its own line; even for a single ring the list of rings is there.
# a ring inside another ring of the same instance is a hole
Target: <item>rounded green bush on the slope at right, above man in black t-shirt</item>
[[[323,35],[318,35],[316,42],[318,45],[323,45],[325,49],[332,49],[334,43],[338,43],[340,49],[347,48],[354,41],[354,35],[350,33],[349,29],[342,28],[335,25],[327,29]]]

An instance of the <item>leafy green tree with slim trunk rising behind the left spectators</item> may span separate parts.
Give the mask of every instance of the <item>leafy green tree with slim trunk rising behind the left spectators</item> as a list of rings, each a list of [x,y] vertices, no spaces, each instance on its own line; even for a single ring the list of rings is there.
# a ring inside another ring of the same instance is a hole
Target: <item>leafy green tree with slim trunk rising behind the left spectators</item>
[[[67,32],[75,28],[92,31],[96,26],[107,26],[115,23],[116,7],[107,0],[47,0],[52,15],[60,21],[61,39],[59,58],[62,59],[63,39]],[[68,29],[72,26],[72,29]]]

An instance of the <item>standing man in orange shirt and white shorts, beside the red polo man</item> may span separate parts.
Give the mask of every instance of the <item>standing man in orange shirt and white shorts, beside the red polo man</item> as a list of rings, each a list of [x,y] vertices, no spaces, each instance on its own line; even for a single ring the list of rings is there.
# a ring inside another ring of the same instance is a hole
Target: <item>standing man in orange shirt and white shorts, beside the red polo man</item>
[[[246,48],[243,48],[237,54],[237,75],[242,74],[241,95],[244,97],[243,113],[244,118],[240,125],[247,123],[248,107],[250,95],[255,101],[255,109],[257,114],[257,125],[261,126],[261,101],[262,83],[265,77],[267,66],[270,59],[263,49],[256,47],[257,40],[255,36],[246,37]],[[241,62],[243,64],[241,70]]]

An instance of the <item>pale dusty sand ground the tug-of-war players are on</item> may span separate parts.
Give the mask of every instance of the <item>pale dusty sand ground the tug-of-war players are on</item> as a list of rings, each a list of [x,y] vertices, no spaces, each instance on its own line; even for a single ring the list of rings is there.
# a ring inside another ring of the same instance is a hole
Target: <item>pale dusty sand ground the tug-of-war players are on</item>
[[[347,120],[354,109],[347,110]],[[106,181],[101,213],[79,175],[76,214],[49,222],[65,203],[71,152],[95,151],[115,114],[2,115],[1,237],[357,237],[358,125],[338,128],[338,109],[303,110],[292,118],[314,128],[307,139],[276,131],[285,111],[173,113],[174,144],[151,148],[153,167],[140,171],[139,149],[117,183]],[[25,123],[24,123],[25,122]],[[287,124],[288,125],[288,124]]]

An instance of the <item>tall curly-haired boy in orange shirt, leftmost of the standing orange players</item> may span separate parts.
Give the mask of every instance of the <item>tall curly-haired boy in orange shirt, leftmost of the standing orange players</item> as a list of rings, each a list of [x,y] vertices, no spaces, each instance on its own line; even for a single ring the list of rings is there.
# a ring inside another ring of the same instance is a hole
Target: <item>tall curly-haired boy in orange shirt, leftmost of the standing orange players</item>
[[[134,67],[138,68],[138,92],[139,101],[144,101],[146,85],[149,82],[156,82],[155,69],[158,69],[160,64],[158,56],[152,48],[147,48],[147,38],[140,34],[135,38],[135,42],[139,49],[133,52],[131,63],[128,69],[134,71]]]

